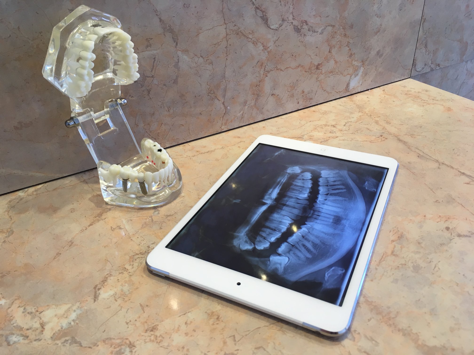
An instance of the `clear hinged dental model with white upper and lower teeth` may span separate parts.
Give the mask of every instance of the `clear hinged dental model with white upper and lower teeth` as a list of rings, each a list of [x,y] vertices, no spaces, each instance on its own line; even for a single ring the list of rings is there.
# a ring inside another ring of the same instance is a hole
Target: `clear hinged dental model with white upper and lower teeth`
[[[120,85],[139,78],[130,39],[117,18],[81,5],[53,28],[43,76],[70,98],[65,124],[77,127],[97,163],[104,200],[153,207],[173,201],[182,178],[157,142],[138,146],[123,114]]]

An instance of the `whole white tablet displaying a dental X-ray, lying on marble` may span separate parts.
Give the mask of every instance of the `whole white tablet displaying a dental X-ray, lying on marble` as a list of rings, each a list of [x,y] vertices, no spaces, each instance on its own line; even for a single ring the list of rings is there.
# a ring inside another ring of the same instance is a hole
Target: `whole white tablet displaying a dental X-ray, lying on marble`
[[[397,168],[392,158],[260,136],[147,266],[337,336],[350,324]]]

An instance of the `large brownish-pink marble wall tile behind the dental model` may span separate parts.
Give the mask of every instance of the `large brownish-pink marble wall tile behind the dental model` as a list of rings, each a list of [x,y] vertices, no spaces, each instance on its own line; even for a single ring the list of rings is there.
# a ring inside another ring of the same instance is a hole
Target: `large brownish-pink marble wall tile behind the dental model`
[[[69,103],[41,75],[52,27],[80,4],[117,16],[141,78],[138,140],[164,146],[410,76],[423,0],[0,3],[0,193],[95,166]]]

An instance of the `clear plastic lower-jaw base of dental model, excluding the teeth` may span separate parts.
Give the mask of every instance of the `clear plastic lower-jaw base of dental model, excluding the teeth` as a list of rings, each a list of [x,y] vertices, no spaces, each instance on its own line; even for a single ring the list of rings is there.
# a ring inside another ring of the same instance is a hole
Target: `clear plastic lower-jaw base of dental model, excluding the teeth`
[[[138,154],[126,161],[121,166],[129,166],[137,173],[145,173],[146,171],[156,172],[158,169],[150,161],[143,159],[141,154]],[[99,161],[97,168],[108,170],[110,164],[106,161]],[[144,195],[141,191],[138,182],[127,182],[127,192],[124,191],[122,180],[115,178],[112,181],[105,181],[103,177],[100,178],[100,190],[105,202],[108,204],[116,204],[119,206],[129,207],[156,207],[168,204],[181,193],[182,177],[179,168],[173,162],[173,171],[171,177],[163,183],[145,184],[147,194]]]

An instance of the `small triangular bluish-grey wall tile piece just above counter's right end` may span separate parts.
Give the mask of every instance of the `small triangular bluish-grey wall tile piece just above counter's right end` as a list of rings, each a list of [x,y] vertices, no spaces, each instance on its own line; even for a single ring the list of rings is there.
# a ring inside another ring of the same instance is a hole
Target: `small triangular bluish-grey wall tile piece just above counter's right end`
[[[411,78],[474,100],[474,60],[428,71]]]

